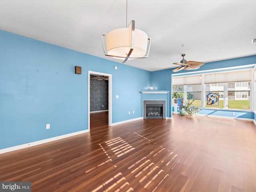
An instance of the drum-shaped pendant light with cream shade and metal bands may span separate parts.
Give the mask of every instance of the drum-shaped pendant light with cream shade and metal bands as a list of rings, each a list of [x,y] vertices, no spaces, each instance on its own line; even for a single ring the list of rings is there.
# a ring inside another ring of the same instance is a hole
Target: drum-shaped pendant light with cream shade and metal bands
[[[142,30],[135,29],[135,21],[132,20],[127,27],[127,0],[126,0],[126,28],[118,28],[102,34],[102,46],[104,54],[122,63],[130,59],[147,58],[150,50],[148,35]]]

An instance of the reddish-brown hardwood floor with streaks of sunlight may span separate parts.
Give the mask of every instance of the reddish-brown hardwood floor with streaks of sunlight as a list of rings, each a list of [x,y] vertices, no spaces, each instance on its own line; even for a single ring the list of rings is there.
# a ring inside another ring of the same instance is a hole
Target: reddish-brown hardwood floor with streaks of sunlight
[[[91,131],[0,154],[0,181],[32,192],[255,192],[256,126],[251,121],[174,115]]]

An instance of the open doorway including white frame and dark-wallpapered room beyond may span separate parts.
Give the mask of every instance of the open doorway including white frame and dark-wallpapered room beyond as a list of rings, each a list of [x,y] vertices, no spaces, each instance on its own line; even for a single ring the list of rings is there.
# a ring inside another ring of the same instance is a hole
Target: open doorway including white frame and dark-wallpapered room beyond
[[[91,116],[112,124],[112,75],[88,71],[88,130],[90,131]]]

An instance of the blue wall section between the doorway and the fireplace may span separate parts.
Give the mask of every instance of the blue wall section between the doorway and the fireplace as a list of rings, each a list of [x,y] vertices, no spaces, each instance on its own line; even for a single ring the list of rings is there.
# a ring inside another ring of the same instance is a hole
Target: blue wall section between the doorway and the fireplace
[[[141,117],[140,90],[146,89],[150,84],[149,71],[125,64],[120,64],[118,70],[112,77],[112,123]]]

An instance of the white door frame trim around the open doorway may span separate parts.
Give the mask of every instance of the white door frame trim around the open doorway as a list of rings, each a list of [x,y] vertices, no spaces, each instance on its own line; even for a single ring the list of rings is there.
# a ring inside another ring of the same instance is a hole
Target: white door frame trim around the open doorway
[[[88,71],[88,130],[90,131],[90,75],[108,76],[108,126],[112,125],[112,75]]]

